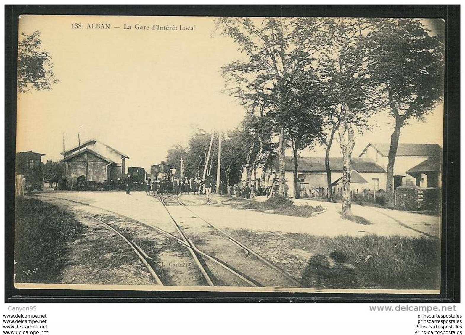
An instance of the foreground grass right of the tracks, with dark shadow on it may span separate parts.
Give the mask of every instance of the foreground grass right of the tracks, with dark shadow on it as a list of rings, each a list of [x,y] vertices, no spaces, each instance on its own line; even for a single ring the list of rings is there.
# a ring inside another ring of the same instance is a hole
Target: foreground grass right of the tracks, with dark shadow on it
[[[438,289],[440,242],[367,235],[313,236],[235,230],[246,244],[310,288]]]

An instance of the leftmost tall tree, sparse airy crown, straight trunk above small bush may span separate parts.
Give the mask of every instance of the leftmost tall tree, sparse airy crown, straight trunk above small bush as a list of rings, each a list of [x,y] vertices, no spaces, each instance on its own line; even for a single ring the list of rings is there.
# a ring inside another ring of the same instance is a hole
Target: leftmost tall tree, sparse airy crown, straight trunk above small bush
[[[319,26],[315,18],[220,18],[217,26],[231,37],[244,54],[243,59],[225,66],[230,90],[244,105],[260,115],[286,113],[289,90],[285,82],[311,68],[312,46]],[[282,117],[281,117],[282,119]],[[285,194],[285,126],[277,122],[279,136],[279,194]]]

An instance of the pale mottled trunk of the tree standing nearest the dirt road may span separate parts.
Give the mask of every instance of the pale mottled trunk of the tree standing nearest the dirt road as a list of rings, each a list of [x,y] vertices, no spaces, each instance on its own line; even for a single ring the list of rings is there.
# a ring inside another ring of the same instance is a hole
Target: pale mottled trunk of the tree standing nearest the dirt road
[[[344,104],[345,112],[349,113],[349,107]],[[347,139],[345,133],[347,132]],[[342,122],[339,125],[339,144],[341,146],[343,167],[342,167],[342,215],[352,215],[350,197],[350,175],[352,173],[352,150],[355,145],[354,125]]]

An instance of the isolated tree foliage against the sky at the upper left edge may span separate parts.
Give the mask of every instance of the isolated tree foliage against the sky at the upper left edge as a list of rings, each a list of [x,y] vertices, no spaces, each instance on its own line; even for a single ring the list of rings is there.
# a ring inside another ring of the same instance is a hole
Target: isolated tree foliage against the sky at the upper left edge
[[[57,82],[50,53],[42,49],[40,32],[21,33],[18,42],[18,92],[50,90]]]

